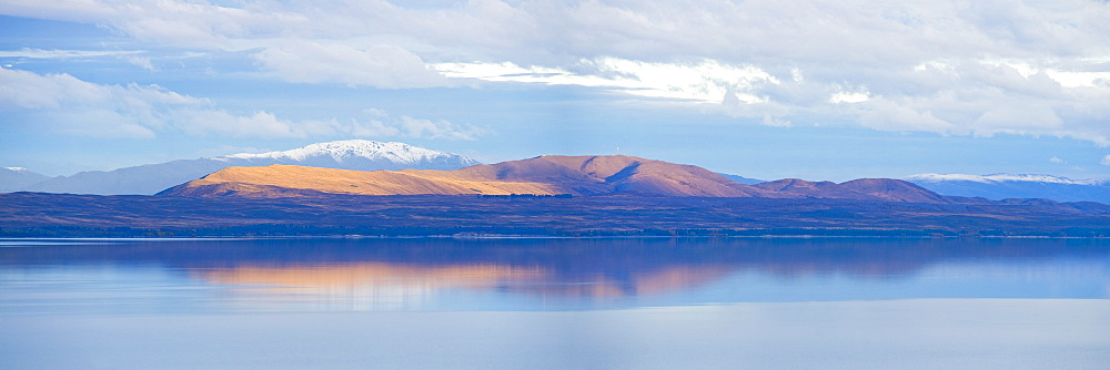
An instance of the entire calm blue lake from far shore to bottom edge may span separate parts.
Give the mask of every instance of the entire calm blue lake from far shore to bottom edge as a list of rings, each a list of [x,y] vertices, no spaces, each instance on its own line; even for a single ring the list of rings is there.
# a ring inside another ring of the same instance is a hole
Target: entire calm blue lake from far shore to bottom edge
[[[1110,368],[1110,240],[0,239],[0,368]]]

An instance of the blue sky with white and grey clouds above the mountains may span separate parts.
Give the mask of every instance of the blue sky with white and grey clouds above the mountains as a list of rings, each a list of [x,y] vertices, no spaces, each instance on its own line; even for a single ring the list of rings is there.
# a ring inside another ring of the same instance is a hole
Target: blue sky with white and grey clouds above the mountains
[[[1110,3],[0,0],[0,166],[365,138],[775,179],[1110,177]]]

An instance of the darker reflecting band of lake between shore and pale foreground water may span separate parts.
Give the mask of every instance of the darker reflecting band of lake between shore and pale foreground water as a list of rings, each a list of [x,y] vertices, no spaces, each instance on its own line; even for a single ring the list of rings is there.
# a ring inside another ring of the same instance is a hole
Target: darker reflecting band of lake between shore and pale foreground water
[[[0,240],[0,310],[1108,298],[1100,239]],[[68,306],[67,306],[68,305]]]

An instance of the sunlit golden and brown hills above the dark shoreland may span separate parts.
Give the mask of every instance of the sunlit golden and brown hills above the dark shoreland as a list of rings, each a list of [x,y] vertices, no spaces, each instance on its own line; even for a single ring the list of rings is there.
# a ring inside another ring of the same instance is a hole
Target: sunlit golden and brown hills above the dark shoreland
[[[164,195],[248,197],[359,195],[599,195],[775,197],[705,168],[626,155],[545,155],[456,171],[342,171],[301,166],[232,167]]]

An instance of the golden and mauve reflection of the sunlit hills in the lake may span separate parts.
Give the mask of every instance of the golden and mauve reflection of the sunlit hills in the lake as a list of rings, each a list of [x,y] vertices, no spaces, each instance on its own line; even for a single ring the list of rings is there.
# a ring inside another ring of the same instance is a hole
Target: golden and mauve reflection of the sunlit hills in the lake
[[[327,308],[418,308],[453,289],[541,298],[619,298],[689,289],[719,279],[725,266],[672,266],[619,277],[604,273],[559,276],[551,267],[509,265],[408,266],[382,263],[332,266],[238,266],[192,271],[211,284],[253,287],[270,298],[325,302]],[[261,287],[268,287],[264,289]],[[300,297],[297,297],[300,296]]]

